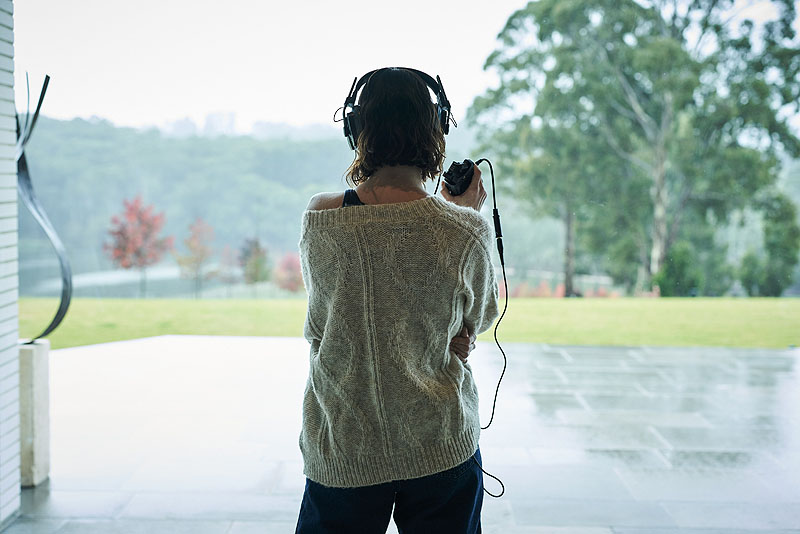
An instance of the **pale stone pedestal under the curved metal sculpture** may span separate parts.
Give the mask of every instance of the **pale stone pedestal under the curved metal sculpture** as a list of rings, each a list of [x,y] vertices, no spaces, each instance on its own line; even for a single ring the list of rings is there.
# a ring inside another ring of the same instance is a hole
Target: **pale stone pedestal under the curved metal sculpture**
[[[41,484],[50,475],[50,341],[20,340],[19,410],[22,487]]]

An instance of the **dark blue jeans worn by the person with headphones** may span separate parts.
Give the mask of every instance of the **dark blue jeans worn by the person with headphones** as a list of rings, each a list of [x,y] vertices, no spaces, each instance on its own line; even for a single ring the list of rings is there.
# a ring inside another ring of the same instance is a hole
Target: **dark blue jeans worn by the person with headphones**
[[[329,488],[306,479],[295,534],[384,534],[394,507],[400,534],[480,534],[480,449],[452,469],[410,480]]]

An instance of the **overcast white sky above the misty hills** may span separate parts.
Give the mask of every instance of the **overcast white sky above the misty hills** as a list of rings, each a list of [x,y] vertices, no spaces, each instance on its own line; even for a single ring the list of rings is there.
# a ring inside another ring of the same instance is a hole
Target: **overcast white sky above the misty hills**
[[[382,66],[442,77],[456,119],[492,78],[483,63],[525,0],[21,0],[14,3],[17,107],[25,72],[42,113],[129,126],[233,111],[329,123],[352,80]]]

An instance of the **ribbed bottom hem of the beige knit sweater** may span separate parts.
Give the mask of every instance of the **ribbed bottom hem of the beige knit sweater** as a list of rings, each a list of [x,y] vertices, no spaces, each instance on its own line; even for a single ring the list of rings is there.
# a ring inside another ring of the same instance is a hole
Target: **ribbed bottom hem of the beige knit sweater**
[[[433,475],[469,459],[478,449],[480,428],[460,436],[426,445],[404,454],[357,456],[353,458],[313,458],[304,454],[303,472],[314,482],[334,488],[372,486],[394,480]]]

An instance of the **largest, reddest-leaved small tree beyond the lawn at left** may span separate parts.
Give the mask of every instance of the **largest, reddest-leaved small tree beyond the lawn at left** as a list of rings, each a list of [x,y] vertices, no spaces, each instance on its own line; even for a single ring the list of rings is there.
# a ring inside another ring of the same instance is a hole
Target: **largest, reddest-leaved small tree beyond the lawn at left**
[[[139,294],[144,297],[147,267],[161,261],[164,253],[172,249],[174,238],[158,236],[164,226],[164,213],[155,214],[152,205],[143,206],[140,196],[133,201],[123,200],[122,204],[123,212],[111,217],[111,242],[103,243],[103,250],[115,265],[141,271]]]

